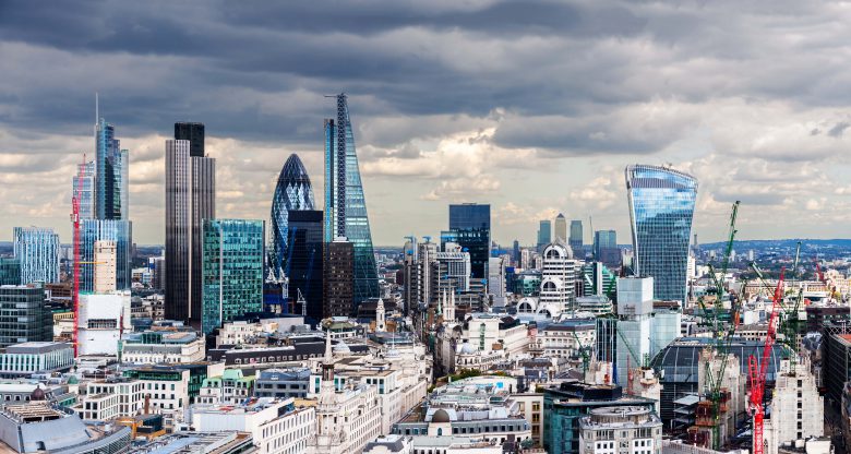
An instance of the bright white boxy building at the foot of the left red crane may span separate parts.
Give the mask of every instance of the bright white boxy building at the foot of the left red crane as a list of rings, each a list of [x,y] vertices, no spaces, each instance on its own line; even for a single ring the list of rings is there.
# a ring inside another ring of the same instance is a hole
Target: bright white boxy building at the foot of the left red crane
[[[130,291],[82,294],[77,354],[118,356],[121,334],[132,331],[130,324]]]

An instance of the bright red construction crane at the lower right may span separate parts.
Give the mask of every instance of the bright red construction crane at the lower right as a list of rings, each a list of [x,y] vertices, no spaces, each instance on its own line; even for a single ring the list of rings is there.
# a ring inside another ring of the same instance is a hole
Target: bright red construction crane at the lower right
[[[771,360],[771,348],[777,337],[775,320],[783,300],[783,271],[782,268],[780,270],[780,279],[777,280],[775,296],[771,299],[771,312],[768,315],[768,333],[765,336],[762,360],[757,363],[753,355],[747,358],[747,371],[751,375],[751,413],[754,416],[754,454],[763,454],[764,452],[763,422],[765,419],[765,407],[763,401],[765,399],[765,379],[768,373],[768,362]]]

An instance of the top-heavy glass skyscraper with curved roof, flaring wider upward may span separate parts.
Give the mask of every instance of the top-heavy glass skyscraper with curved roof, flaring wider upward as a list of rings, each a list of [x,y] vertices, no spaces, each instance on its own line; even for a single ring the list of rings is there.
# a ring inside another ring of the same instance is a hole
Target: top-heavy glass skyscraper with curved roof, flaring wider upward
[[[625,177],[635,274],[654,277],[656,298],[684,302],[697,180],[647,165],[627,166]]]

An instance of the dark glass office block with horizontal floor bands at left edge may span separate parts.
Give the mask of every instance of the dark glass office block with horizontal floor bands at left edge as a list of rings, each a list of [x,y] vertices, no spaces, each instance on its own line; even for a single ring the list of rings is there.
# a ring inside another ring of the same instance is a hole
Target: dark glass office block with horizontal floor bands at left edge
[[[0,286],[0,348],[53,340],[53,315],[41,284]]]

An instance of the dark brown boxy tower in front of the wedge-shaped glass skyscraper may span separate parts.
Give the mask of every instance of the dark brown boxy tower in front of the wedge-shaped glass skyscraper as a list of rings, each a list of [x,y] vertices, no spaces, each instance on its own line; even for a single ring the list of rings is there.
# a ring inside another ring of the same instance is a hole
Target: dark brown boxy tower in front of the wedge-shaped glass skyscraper
[[[325,249],[322,315],[350,316],[355,313],[355,243],[337,238]]]

